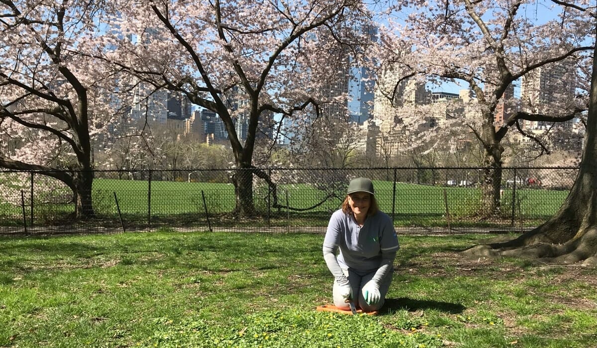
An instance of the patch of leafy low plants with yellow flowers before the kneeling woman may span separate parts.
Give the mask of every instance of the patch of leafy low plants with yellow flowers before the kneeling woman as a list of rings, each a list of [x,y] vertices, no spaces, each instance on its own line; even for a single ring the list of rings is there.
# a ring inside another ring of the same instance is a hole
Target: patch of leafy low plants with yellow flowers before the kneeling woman
[[[233,319],[156,319],[158,329],[140,346],[159,347],[441,347],[436,335],[384,328],[368,315],[285,310]]]

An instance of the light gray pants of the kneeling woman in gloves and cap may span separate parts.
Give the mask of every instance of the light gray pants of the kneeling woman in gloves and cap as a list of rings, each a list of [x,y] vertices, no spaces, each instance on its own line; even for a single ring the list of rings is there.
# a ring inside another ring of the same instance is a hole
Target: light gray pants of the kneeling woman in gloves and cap
[[[364,294],[362,291],[362,288],[365,286],[365,284],[367,284],[368,281],[373,279],[375,272],[367,273],[366,275],[363,275],[363,276],[358,275],[357,273],[352,272],[351,270],[347,270],[347,269],[342,269],[342,272],[344,272],[344,275],[346,276],[346,278],[348,278],[348,282],[350,283],[350,287],[352,288],[353,297],[358,298],[357,300],[355,300],[355,306],[361,307],[361,309],[364,310],[365,312],[371,312],[372,310],[379,310],[381,308],[381,306],[383,306],[383,303],[386,300],[387,290],[389,290],[390,284],[392,283],[393,270],[392,270],[392,272],[389,272],[388,274],[386,274],[384,279],[381,281],[381,284],[379,286],[379,292],[380,292],[381,298],[380,298],[379,302],[375,303],[375,304],[373,304],[373,303],[367,304],[367,302],[365,302],[365,297],[364,297]],[[334,288],[333,288],[334,306],[336,306],[340,309],[346,309],[346,310],[350,309],[349,304],[344,302],[344,298],[341,297],[340,294],[338,294],[338,288],[339,288],[339,285],[337,284],[336,281],[334,281]]]

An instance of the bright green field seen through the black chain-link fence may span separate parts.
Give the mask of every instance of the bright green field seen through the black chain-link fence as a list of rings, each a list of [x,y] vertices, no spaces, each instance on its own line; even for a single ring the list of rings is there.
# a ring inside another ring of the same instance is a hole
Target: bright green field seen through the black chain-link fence
[[[481,208],[481,189],[475,187],[441,187],[411,183],[396,183],[396,196],[392,205],[393,183],[391,181],[374,181],[376,197],[382,211],[395,213],[398,226],[437,226],[446,223],[446,192],[448,212],[453,219],[454,226],[458,224],[475,224],[467,221]],[[148,188],[146,180],[94,180],[93,200],[94,210],[99,216],[118,218],[116,199],[121,214],[128,221],[146,220],[150,213],[156,220],[167,218],[169,223],[176,222],[177,216],[181,221],[193,221],[205,218],[205,205],[210,215],[229,213],[235,208],[234,187],[224,183],[198,183],[178,181],[157,181],[151,183],[151,207],[148,211]],[[318,190],[309,184],[281,184],[277,187],[278,204],[288,205],[304,210],[318,205],[326,198],[328,192]],[[203,195],[202,195],[203,193]],[[57,193],[68,197],[68,190]],[[299,219],[299,224],[322,226],[327,223],[329,214],[340,207],[340,198],[328,198],[323,204],[307,211],[276,209],[273,207],[272,196],[268,198],[267,186],[254,187],[254,202],[263,215],[278,218],[278,224],[291,216]],[[116,195],[116,199],[115,199]],[[343,198],[344,193],[338,191]],[[558,210],[567,191],[543,189],[518,189],[512,204],[512,189],[505,189],[502,198],[502,214],[507,218],[513,216],[516,220],[521,217],[525,224],[536,224],[545,220]],[[53,204],[51,198],[41,194],[36,195],[35,216],[38,223],[51,220],[54,215],[67,214],[72,211],[72,204]],[[269,204],[268,204],[269,199]],[[63,198],[64,200],[64,198]],[[29,201],[26,201],[26,215],[29,217]],[[392,210],[393,208],[393,210]],[[514,211],[512,211],[514,209]],[[512,213],[514,213],[512,215]],[[21,207],[0,204],[0,215],[4,215],[4,226],[13,224],[18,226],[22,222]],[[215,220],[214,220],[215,221]],[[298,223],[298,222],[297,222]]]

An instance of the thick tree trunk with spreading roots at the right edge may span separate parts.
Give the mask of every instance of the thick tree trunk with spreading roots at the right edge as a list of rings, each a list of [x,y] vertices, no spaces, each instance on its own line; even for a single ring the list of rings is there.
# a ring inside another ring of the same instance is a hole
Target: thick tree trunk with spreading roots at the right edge
[[[597,27],[595,28],[597,33]],[[586,138],[578,177],[559,211],[546,223],[509,242],[475,245],[468,255],[512,255],[557,263],[584,261],[597,266],[597,46],[587,114]]]

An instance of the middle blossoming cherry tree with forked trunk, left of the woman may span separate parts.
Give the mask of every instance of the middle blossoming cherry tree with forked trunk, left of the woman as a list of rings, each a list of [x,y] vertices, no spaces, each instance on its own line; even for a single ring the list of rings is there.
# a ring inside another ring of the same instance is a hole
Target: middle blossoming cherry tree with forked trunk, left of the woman
[[[279,115],[279,130],[306,110],[319,115],[331,102],[323,93],[330,76],[367,42],[355,30],[367,24],[358,0],[110,3],[106,39],[116,50],[101,48],[104,59],[219,115],[234,155],[236,212],[247,216],[255,214],[253,175],[267,176],[254,166],[260,119]],[[235,128],[241,118],[246,140]]]

